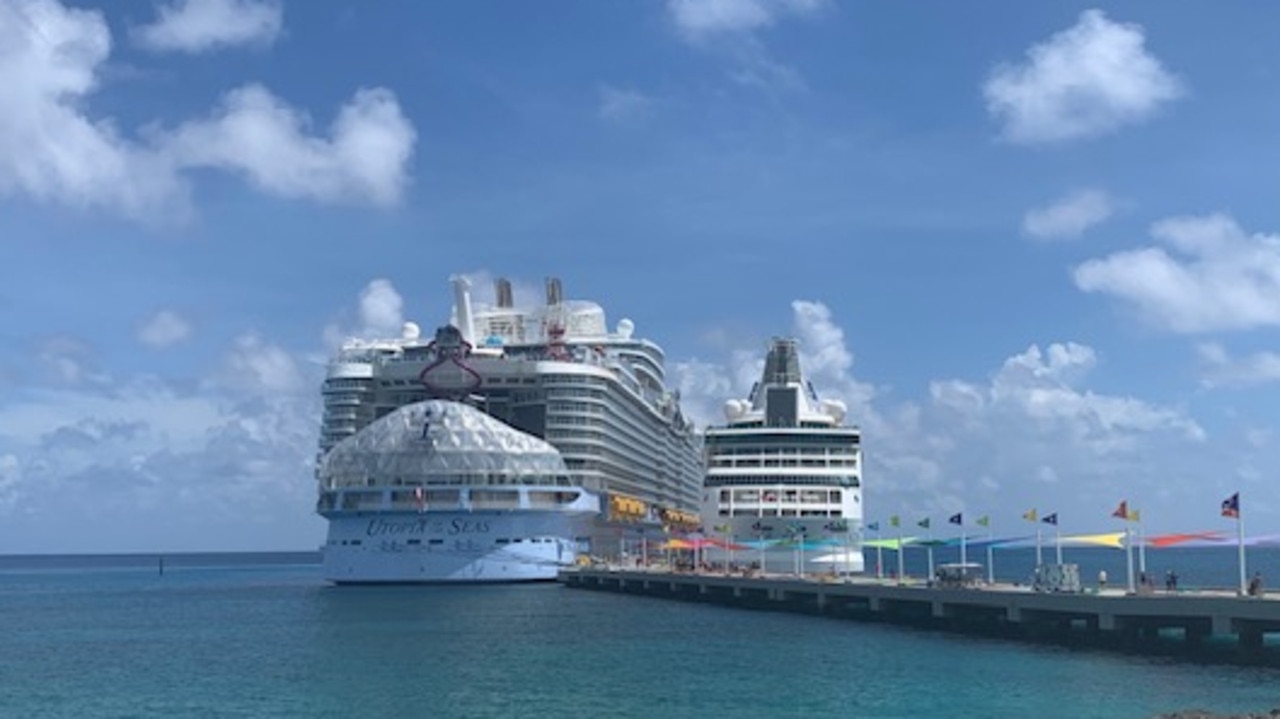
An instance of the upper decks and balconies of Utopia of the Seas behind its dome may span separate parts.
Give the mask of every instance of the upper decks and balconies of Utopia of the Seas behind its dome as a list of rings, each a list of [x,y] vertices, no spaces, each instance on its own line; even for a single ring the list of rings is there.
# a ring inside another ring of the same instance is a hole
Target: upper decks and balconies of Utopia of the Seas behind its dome
[[[430,338],[408,322],[399,338],[338,352],[324,384],[321,462],[398,408],[457,402],[549,443],[568,485],[600,498],[580,551],[616,554],[646,530],[695,527],[700,441],[666,385],[662,349],[630,320],[609,330],[604,310],[566,299],[558,279],[544,303],[525,307],[504,279],[493,304],[474,303],[468,279],[452,283],[451,321]],[[320,491],[324,507],[332,489]]]

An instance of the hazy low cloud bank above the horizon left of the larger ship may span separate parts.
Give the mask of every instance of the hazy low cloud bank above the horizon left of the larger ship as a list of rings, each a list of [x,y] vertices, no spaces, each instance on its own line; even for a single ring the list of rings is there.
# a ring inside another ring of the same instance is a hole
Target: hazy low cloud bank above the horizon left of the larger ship
[[[14,551],[315,546],[320,371],[294,356],[242,335],[196,385],[127,375],[10,393],[0,541]],[[51,532],[51,517],[79,531]]]

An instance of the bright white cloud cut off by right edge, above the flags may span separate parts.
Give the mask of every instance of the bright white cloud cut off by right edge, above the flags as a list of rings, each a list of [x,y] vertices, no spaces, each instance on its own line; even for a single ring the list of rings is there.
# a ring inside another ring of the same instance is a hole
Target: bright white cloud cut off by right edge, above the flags
[[[1249,235],[1221,214],[1166,219],[1151,234],[1165,247],[1083,262],[1076,287],[1176,333],[1280,325],[1280,235]]]

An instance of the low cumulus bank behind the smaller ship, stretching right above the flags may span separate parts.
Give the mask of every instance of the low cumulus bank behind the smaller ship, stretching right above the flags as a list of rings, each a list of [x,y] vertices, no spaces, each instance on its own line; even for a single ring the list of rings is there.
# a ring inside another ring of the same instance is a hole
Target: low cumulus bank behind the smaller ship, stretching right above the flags
[[[1117,493],[1138,496],[1192,472],[1197,461],[1175,449],[1207,443],[1180,408],[1089,389],[1100,358],[1083,344],[1032,345],[986,380],[937,380],[914,402],[856,376],[828,306],[796,301],[791,308],[806,377],[819,397],[844,400],[849,421],[863,429],[868,519],[959,510],[998,517],[1053,503],[1078,516],[1096,512],[1102,525]],[[686,411],[700,425],[723,423],[723,402],[745,397],[759,379],[763,349],[737,349],[723,362],[673,362]]]

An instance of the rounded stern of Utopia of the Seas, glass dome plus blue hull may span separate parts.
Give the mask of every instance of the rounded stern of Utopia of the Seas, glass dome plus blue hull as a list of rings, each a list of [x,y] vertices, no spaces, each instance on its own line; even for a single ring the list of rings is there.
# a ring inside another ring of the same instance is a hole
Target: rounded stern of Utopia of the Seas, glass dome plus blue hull
[[[602,504],[552,444],[444,399],[338,443],[319,478],[324,576],[339,585],[554,580]]]

